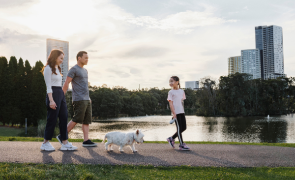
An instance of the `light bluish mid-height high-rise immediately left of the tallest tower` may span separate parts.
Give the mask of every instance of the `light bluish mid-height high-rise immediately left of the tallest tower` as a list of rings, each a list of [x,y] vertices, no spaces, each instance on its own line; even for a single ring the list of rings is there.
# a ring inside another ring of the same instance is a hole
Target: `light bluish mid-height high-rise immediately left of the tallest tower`
[[[259,49],[241,50],[242,73],[253,75],[253,79],[261,78],[261,61]]]

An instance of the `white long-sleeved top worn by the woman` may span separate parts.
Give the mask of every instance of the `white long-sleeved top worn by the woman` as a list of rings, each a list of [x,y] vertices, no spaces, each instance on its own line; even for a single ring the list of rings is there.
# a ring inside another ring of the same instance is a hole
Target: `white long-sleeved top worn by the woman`
[[[61,87],[62,77],[60,75],[58,66],[56,66],[56,73],[57,74],[52,73],[52,70],[49,65],[47,65],[44,68],[44,79],[45,79],[45,84],[47,87],[47,90],[46,90],[47,93],[52,92],[52,89],[51,89],[52,86]]]

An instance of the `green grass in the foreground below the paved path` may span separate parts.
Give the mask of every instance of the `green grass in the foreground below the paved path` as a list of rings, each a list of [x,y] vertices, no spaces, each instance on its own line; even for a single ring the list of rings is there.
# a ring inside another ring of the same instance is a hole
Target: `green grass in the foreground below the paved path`
[[[221,168],[0,163],[0,180],[294,180],[294,167]]]

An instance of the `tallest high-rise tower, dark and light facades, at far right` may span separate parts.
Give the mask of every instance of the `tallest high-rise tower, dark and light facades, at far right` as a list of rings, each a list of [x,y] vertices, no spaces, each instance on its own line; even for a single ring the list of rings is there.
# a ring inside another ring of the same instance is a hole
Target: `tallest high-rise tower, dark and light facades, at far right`
[[[284,71],[283,29],[279,26],[255,27],[256,48],[262,53],[262,77],[286,76]]]

